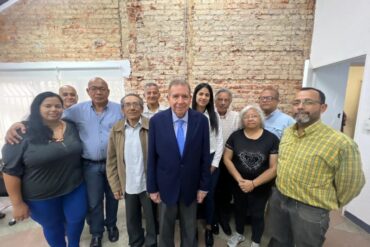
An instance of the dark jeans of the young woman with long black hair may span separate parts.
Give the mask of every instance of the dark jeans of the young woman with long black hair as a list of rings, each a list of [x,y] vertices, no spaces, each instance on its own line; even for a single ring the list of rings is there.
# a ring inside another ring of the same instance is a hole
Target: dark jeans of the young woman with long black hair
[[[217,168],[211,175],[211,186],[209,187],[206,198],[204,198],[204,208],[207,225],[212,225],[215,223],[215,189],[219,175],[220,171]]]

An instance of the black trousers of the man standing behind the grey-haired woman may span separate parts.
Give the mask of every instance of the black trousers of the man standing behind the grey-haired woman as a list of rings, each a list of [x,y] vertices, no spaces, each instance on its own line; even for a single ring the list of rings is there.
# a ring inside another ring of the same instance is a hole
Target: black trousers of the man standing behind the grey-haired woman
[[[219,178],[215,189],[215,222],[228,224],[232,214],[232,184],[235,183],[221,158]]]

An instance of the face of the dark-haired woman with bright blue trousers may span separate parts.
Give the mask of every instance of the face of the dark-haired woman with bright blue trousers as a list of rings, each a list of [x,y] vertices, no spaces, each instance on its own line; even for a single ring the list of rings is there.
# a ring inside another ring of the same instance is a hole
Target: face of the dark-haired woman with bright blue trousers
[[[48,97],[40,105],[40,115],[45,123],[59,121],[63,114],[63,104],[58,97]]]

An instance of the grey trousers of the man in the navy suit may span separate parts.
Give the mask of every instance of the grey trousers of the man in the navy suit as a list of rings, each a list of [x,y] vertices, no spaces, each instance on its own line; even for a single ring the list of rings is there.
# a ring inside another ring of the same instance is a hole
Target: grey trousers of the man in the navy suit
[[[159,246],[175,247],[175,224],[176,218],[180,218],[181,247],[197,247],[197,202],[194,201],[189,206],[179,202],[174,206],[167,206],[161,203],[159,220]]]

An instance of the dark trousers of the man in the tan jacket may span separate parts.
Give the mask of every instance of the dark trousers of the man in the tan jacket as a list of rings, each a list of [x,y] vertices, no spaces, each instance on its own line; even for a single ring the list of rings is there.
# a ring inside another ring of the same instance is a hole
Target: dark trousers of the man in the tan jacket
[[[128,244],[132,247],[153,246],[157,244],[157,233],[152,208],[152,201],[144,191],[140,194],[125,194],[126,203],[126,226]],[[142,226],[141,209],[143,209],[146,236]]]

